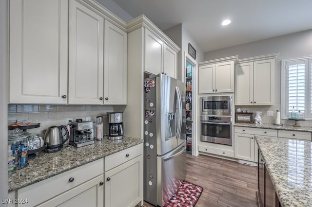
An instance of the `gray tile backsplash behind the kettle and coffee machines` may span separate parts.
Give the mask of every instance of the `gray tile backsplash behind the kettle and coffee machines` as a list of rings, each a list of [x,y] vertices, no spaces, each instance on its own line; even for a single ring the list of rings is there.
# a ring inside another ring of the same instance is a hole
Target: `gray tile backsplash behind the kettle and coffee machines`
[[[66,118],[85,120],[91,117],[95,121],[98,115],[106,116],[107,112],[114,112],[113,105],[8,105],[8,124],[17,120],[36,120],[39,128],[29,129],[27,132],[38,132],[53,125],[65,125]],[[118,111],[119,112],[119,111]],[[120,111],[122,112],[122,111]],[[105,120],[105,119],[104,119]]]

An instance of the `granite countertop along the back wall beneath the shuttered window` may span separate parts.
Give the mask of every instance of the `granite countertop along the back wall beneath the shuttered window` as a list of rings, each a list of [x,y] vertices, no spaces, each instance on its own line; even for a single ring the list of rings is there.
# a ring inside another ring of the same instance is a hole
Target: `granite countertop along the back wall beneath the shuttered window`
[[[255,123],[234,123],[234,126],[251,127],[251,128],[261,128],[261,129],[278,129],[278,130],[290,130],[290,131],[301,131],[301,132],[312,132],[312,127],[310,126],[300,126],[295,127],[292,125],[274,125],[268,123],[255,124]]]

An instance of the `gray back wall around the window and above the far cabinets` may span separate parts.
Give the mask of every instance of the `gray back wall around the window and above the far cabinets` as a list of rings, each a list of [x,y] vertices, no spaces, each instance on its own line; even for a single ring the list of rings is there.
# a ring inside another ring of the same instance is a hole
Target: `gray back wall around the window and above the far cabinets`
[[[253,57],[258,55],[272,54],[279,52],[275,60],[275,100],[271,107],[244,107],[254,111],[261,108],[265,123],[273,123],[273,118],[266,117],[266,110],[275,111],[281,108],[281,60],[312,55],[312,30],[292,33],[289,35],[277,36],[269,39],[259,40],[251,43],[237,45],[225,49],[220,49],[204,53],[204,59],[214,60],[222,57],[238,55],[238,59]],[[263,120],[263,119],[262,119]],[[291,124],[288,122],[282,122]],[[302,125],[312,125],[312,122],[306,121]]]

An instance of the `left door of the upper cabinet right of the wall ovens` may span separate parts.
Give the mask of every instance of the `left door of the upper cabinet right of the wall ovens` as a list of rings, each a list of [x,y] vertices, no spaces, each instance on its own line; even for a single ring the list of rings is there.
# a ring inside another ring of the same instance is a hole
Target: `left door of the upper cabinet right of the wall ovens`
[[[235,65],[235,105],[254,104],[254,64]]]

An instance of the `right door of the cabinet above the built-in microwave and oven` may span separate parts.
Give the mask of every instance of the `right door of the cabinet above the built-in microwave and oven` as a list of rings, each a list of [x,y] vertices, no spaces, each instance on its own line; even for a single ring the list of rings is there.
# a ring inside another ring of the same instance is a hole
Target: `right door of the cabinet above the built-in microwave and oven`
[[[234,61],[215,64],[215,92],[234,92]]]

